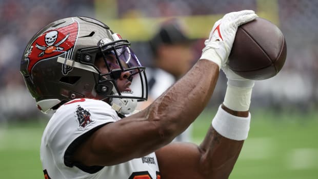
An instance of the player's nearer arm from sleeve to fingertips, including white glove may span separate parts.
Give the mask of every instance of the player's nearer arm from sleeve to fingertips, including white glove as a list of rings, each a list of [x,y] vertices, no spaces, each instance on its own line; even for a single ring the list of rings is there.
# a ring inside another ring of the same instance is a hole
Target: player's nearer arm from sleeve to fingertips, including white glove
[[[86,166],[115,165],[169,144],[203,111],[213,93],[220,67],[226,63],[237,27],[254,18],[253,11],[225,15],[218,21],[221,25],[213,27],[201,60],[183,78],[145,110],[94,132],[75,152],[74,161]],[[216,37],[216,33],[220,36]],[[177,148],[171,150],[174,149]],[[196,152],[202,152],[200,148],[196,149],[199,149]],[[158,161],[162,163],[161,154],[158,153]],[[201,156],[195,152],[189,155],[196,160]]]

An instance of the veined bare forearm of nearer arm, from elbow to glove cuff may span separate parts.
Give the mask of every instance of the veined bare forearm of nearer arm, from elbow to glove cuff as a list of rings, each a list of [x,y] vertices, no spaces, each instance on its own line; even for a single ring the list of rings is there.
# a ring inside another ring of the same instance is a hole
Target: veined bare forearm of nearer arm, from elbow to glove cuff
[[[174,138],[202,112],[213,93],[218,66],[205,59],[147,108],[147,120],[155,120],[164,134]]]

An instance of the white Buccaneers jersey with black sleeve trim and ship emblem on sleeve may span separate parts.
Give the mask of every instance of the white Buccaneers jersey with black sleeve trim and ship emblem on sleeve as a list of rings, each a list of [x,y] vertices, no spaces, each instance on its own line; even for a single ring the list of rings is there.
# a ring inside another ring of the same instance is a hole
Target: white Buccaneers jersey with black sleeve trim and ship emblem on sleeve
[[[120,117],[111,106],[99,100],[76,99],[59,107],[42,136],[41,161],[45,178],[160,178],[155,153],[107,167],[86,167],[68,160],[85,135],[118,120]]]

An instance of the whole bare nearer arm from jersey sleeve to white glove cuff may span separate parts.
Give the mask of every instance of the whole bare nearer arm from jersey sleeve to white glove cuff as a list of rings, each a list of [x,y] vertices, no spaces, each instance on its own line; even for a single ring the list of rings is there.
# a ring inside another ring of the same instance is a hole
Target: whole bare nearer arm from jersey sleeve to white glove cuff
[[[119,164],[145,156],[170,143],[202,112],[210,100],[218,72],[215,63],[202,59],[145,110],[95,132],[81,150],[85,152],[88,148],[96,153],[88,158],[95,157],[93,160],[85,161],[86,165]],[[132,150],[136,146],[137,149]]]

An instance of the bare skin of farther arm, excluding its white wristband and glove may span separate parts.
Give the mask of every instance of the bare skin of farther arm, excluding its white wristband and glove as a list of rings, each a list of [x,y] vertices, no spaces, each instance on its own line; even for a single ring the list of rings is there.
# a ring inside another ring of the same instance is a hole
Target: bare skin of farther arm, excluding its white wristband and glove
[[[234,118],[247,118],[249,115],[248,111],[233,111],[224,105],[222,109],[222,112],[227,112]],[[228,137],[218,133],[211,125],[200,146],[191,143],[171,143],[159,149],[156,156],[161,177],[228,178],[244,143],[244,140],[232,140]]]

